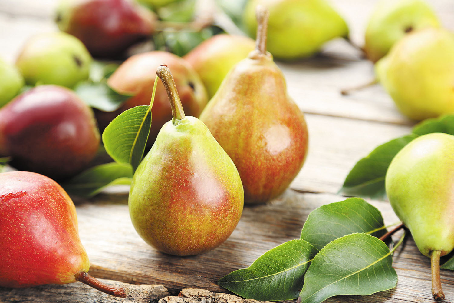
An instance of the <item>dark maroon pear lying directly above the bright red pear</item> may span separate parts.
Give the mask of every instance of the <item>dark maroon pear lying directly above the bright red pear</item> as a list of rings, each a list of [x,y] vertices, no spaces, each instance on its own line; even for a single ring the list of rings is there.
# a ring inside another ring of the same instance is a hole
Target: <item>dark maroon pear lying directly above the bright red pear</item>
[[[92,110],[64,87],[37,86],[0,109],[0,156],[17,169],[65,179],[86,168],[99,142]]]

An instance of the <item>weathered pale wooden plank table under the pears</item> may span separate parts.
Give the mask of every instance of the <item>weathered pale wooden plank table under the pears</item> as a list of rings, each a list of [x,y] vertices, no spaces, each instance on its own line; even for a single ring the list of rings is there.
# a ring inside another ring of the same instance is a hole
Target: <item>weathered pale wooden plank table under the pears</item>
[[[375,1],[332,2],[349,23],[352,40],[361,45],[365,22]],[[51,18],[54,3],[55,0],[0,0],[0,56],[14,62],[28,37],[55,30]],[[453,30],[454,3],[451,0],[431,3],[444,25]],[[0,289],[0,302],[154,302],[183,288],[207,291],[183,291],[183,297],[162,302],[237,301],[238,298],[209,291],[228,293],[216,284],[217,279],[248,267],[276,245],[299,238],[313,209],[345,199],[336,193],[356,161],[375,146],[408,133],[414,124],[397,111],[379,85],[341,96],[341,89],[374,77],[372,63],[362,60],[360,52],[343,40],[329,42],[314,58],[279,66],[286,76],[290,95],[306,113],[310,134],[306,163],[281,197],[265,205],[246,206],[236,230],[225,243],[191,257],[168,256],[148,246],[131,224],[128,196],[124,192],[75,199],[80,238],[92,264],[90,273],[118,284],[162,286],[129,285],[133,291],[124,300],[104,296],[82,283]],[[397,220],[387,202],[369,202],[380,209],[386,224]],[[420,254],[410,239],[404,249],[395,253],[393,267],[399,276],[396,288],[367,297],[335,297],[326,302],[432,300],[429,263],[429,258]],[[454,302],[454,272],[443,270],[441,278],[445,302]]]

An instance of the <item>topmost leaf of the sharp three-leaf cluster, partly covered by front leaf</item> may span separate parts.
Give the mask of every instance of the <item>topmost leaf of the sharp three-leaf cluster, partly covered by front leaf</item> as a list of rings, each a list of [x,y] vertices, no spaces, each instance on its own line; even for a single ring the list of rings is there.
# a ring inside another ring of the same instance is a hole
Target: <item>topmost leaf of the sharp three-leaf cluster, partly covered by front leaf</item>
[[[386,233],[380,211],[360,198],[322,205],[307,217],[301,239],[320,250],[350,233],[369,233],[380,238]]]

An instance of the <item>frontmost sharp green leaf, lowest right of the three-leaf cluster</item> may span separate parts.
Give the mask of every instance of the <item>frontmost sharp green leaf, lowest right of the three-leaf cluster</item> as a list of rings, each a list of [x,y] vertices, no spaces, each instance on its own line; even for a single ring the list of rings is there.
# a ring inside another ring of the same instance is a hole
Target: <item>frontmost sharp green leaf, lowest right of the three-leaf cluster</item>
[[[370,295],[394,288],[397,274],[386,244],[366,233],[328,243],[312,260],[301,303],[320,303],[337,295]]]

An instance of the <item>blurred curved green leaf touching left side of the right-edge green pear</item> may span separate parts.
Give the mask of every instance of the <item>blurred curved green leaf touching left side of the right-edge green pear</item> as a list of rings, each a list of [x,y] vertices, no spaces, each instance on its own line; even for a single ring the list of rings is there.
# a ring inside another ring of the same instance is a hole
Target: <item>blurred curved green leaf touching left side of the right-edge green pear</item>
[[[371,199],[385,199],[385,175],[394,156],[417,134],[393,139],[375,148],[351,169],[342,185],[341,194]]]

